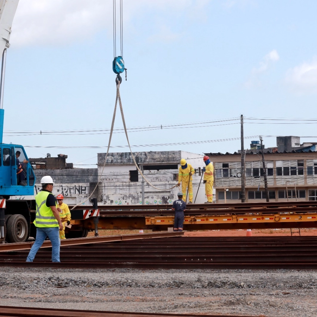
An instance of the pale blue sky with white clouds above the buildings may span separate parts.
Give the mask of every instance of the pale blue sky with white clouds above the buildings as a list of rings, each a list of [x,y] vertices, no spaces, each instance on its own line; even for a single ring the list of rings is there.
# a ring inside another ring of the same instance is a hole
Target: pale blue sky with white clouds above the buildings
[[[234,152],[239,139],[197,142],[239,138],[241,114],[317,118],[316,1],[123,0],[123,9],[122,105],[127,127],[146,130],[129,132],[133,151]],[[10,43],[3,141],[33,158],[96,164],[116,96],[112,0],[21,0]],[[317,121],[245,121],[245,137],[272,136],[265,146],[317,135]],[[111,145],[129,151],[124,133]]]

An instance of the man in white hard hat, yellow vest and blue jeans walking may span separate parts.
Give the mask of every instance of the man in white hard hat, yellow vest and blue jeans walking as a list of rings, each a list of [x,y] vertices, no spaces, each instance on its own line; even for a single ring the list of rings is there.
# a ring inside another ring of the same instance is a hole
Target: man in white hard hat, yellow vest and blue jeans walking
[[[63,224],[52,194],[54,182],[50,176],[44,176],[41,184],[42,190],[35,196],[36,214],[33,223],[36,226],[36,238],[26,262],[33,262],[47,236],[52,243],[52,262],[61,262],[59,230],[63,230]]]

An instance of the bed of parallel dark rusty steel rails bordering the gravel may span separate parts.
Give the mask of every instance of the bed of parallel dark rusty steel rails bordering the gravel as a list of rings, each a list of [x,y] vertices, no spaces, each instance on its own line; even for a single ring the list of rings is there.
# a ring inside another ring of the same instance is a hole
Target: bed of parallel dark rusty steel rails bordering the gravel
[[[317,269],[317,237],[171,237],[61,247],[61,263],[40,249],[0,253],[0,266],[53,268]]]

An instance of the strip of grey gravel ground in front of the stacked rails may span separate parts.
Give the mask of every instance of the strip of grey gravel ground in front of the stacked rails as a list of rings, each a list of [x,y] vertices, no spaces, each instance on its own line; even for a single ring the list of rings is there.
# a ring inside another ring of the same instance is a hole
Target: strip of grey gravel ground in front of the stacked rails
[[[315,317],[316,288],[309,270],[1,268],[0,305]]]

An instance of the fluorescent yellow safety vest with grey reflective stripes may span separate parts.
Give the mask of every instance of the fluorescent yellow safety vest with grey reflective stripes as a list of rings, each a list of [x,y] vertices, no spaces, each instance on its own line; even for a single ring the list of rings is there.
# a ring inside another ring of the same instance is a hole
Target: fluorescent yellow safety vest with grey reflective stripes
[[[49,194],[49,191],[40,191],[35,196],[36,214],[33,223],[36,227],[59,227],[53,211],[46,206],[46,199]]]

